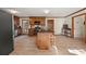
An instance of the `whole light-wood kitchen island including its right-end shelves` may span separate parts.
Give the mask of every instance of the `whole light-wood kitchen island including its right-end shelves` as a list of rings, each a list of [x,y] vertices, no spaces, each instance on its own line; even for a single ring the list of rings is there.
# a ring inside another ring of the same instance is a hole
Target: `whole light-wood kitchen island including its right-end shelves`
[[[36,46],[39,50],[48,50],[51,46],[54,44],[54,35],[53,33],[38,33]]]

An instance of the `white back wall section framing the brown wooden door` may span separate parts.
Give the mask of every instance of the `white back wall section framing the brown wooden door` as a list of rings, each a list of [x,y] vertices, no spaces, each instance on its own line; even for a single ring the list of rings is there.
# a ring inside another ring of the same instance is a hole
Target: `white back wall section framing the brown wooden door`
[[[54,35],[61,35],[61,29],[64,24],[64,18],[58,17],[47,17],[46,18],[46,29],[47,29],[47,20],[54,20]]]

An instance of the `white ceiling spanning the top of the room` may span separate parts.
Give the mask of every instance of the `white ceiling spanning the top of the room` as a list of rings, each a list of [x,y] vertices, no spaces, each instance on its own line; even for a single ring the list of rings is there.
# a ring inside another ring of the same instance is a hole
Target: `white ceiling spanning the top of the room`
[[[16,10],[17,16],[66,16],[83,8],[2,8],[2,10]],[[44,13],[44,10],[49,10],[48,14]]]

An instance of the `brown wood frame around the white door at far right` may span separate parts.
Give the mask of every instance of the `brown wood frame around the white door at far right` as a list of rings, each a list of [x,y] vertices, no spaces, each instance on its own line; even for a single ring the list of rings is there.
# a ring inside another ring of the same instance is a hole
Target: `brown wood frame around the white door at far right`
[[[74,18],[82,15],[85,15],[85,42],[86,42],[86,13],[72,16],[72,37],[74,38]]]

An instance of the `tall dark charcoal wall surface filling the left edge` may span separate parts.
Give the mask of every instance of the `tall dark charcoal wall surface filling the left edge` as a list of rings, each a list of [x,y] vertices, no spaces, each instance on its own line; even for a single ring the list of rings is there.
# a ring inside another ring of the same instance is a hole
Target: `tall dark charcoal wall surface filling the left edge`
[[[0,55],[13,51],[12,15],[0,10]]]

